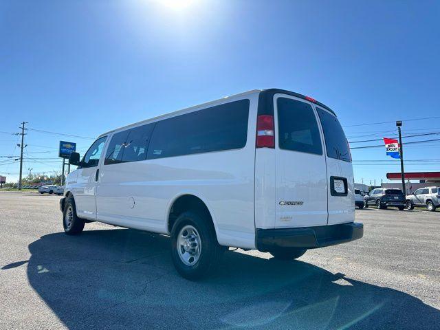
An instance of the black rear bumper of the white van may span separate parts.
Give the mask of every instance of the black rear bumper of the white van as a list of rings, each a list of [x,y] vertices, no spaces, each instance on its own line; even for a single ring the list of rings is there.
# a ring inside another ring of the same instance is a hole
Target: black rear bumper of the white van
[[[354,241],[362,236],[364,224],[360,222],[303,228],[257,228],[256,248],[261,252],[273,248],[316,249]]]

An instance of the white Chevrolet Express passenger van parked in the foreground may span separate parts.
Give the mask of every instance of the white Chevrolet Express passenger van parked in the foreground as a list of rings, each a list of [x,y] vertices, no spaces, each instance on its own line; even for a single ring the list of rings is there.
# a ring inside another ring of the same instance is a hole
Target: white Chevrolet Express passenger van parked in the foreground
[[[104,133],[67,175],[66,234],[100,221],[170,235],[181,276],[228,247],[278,259],[360,239],[351,154],[336,114],[265,89]]]

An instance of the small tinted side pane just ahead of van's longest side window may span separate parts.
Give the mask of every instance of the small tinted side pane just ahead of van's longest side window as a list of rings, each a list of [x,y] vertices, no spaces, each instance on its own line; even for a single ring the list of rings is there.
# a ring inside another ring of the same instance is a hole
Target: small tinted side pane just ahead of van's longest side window
[[[129,130],[129,137],[124,145],[122,162],[137,162],[146,159],[146,150],[150,143],[155,124],[146,124]]]

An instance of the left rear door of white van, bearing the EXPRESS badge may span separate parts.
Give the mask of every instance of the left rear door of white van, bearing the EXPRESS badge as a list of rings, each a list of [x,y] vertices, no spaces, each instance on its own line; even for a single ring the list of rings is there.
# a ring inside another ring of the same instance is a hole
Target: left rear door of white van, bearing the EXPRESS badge
[[[327,170],[311,103],[275,94],[276,228],[327,225]]]

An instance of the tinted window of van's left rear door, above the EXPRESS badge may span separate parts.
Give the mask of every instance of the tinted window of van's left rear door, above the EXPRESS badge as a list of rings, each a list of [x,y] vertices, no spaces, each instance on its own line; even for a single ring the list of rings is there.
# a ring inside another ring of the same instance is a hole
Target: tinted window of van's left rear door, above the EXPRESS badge
[[[314,110],[305,102],[278,98],[278,146],[281,149],[322,155]]]

